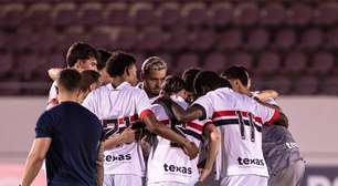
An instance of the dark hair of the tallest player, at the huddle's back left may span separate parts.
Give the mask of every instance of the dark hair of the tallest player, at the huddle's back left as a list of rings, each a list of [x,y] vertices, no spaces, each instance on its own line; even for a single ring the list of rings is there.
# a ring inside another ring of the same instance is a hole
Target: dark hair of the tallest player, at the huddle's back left
[[[97,51],[87,43],[76,42],[67,51],[66,63],[68,68],[73,68],[77,60],[87,60],[89,58],[97,60]]]

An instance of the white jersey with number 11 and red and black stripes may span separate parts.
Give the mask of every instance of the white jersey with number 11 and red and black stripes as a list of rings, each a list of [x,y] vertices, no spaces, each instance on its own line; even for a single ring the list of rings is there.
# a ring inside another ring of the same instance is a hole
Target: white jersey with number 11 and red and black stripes
[[[211,91],[193,104],[204,107],[205,117],[220,127],[222,144],[216,158],[218,178],[268,176],[262,153],[262,124],[272,123],[279,112],[228,87]]]

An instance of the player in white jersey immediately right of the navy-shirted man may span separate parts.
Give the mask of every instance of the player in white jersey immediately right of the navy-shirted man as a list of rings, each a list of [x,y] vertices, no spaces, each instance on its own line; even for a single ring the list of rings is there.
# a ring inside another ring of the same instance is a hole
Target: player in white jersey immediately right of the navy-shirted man
[[[137,127],[138,121],[165,138],[180,144],[190,158],[198,154],[197,146],[159,123],[150,110],[150,101],[137,83],[136,60],[125,52],[114,52],[106,70],[112,83],[94,90],[83,105],[103,121],[105,141],[104,185],[140,186],[145,176],[145,164],[139,141],[125,143],[122,135]]]

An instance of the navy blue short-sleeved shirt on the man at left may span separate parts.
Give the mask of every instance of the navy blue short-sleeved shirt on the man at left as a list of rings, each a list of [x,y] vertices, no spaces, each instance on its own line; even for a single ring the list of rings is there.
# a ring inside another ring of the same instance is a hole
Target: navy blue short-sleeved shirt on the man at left
[[[40,116],[35,134],[52,138],[45,157],[47,185],[96,185],[103,128],[91,111],[76,102],[62,102]]]

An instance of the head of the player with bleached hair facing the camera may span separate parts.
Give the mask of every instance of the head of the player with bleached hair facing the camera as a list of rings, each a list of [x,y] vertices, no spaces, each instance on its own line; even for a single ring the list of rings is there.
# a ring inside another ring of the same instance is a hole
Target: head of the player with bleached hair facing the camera
[[[167,63],[158,56],[150,56],[142,63],[140,73],[142,82],[138,86],[146,91],[151,103],[160,93],[167,70]]]

